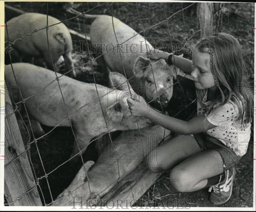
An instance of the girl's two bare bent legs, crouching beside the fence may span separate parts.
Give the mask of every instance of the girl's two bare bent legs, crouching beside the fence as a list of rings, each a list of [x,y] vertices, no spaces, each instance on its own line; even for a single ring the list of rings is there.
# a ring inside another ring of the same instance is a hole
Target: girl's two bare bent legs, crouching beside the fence
[[[223,172],[218,165],[223,160],[216,150],[201,152],[191,135],[177,136],[157,147],[157,154],[147,161],[154,173],[172,169],[170,181],[180,192],[192,192],[204,188],[208,178]],[[164,165],[164,166],[163,166]]]

